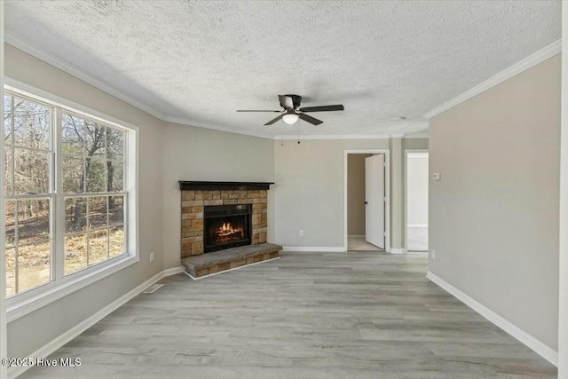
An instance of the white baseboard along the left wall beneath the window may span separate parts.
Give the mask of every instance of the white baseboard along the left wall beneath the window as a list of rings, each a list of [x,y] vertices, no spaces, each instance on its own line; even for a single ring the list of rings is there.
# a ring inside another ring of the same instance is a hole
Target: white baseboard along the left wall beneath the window
[[[140,293],[142,293],[142,291],[144,291],[146,288],[152,286],[156,281],[161,280],[162,278],[164,278],[166,276],[174,275],[176,273],[184,272],[184,271],[185,271],[185,268],[183,266],[179,266],[179,267],[170,268],[168,270],[164,270],[162,272],[156,273],[152,278],[146,280],[144,283],[140,284],[137,288],[134,288],[134,289],[130,290],[130,292],[120,296],[119,298],[114,300],[114,302],[112,302],[111,304],[106,305],[106,307],[101,309],[99,312],[92,314],[86,320],[83,320],[80,323],[78,323],[77,325],[75,325],[75,327],[68,329],[67,332],[65,332],[62,335],[51,340],[51,342],[44,344],[42,347],[40,347],[36,351],[29,354],[28,357],[31,357],[33,359],[47,358],[50,354],[57,351],[61,346],[68,343],[69,341],[71,341],[75,337],[79,336],[85,330],[87,330],[88,328],[91,328],[93,325],[95,325],[100,320],[103,320],[110,313],[114,312],[115,310],[120,308],[122,305],[128,303],[131,299],[138,296]],[[33,367],[33,366],[9,367],[8,368],[8,377],[12,379],[12,378],[15,378],[19,375],[22,375],[31,367]]]

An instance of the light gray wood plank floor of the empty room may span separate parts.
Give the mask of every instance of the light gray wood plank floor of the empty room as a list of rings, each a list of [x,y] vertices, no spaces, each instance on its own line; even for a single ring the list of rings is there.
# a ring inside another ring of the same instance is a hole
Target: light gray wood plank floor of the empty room
[[[21,378],[545,378],[550,365],[426,280],[426,258],[283,253],[162,280]]]

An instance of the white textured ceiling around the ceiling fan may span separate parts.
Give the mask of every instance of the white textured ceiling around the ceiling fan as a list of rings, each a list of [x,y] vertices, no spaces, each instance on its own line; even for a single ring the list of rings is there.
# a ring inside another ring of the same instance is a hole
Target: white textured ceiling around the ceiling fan
[[[560,1],[6,1],[8,41],[90,75],[170,121],[303,134],[423,130],[422,114],[560,38]],[[393,117],[406,116],[406,121]]]

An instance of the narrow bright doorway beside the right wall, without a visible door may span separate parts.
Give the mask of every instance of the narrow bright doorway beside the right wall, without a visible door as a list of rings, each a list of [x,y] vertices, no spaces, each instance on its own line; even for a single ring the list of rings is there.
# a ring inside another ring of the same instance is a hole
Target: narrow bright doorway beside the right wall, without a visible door
[[[428,251],[428,151],[405,155],[406,250]]]

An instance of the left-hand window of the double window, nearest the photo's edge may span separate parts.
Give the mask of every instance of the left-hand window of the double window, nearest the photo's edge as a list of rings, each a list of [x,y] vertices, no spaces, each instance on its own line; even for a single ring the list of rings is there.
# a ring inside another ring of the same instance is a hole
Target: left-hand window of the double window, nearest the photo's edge
[[[4,96],[6,296],[52,280],[53,109]]]

